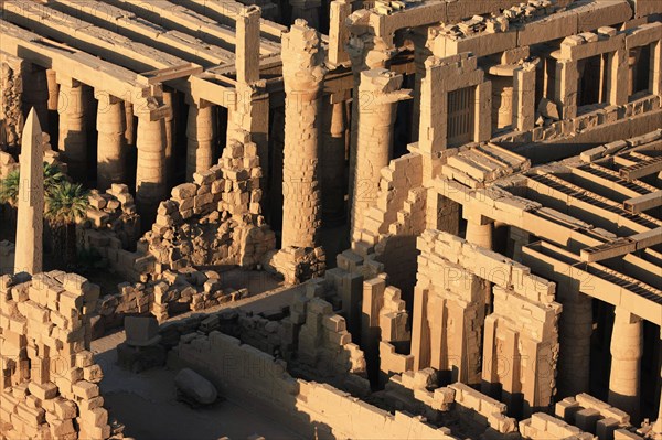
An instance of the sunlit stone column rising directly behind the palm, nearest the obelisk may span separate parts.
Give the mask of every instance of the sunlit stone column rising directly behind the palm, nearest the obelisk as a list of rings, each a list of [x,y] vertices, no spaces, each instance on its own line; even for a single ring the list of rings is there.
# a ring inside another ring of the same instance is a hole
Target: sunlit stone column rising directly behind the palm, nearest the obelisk
[[[85,126],[86,101],[83,84],[76,79],[57,75],[60,82],[60,151],[67,164],[68,174],[76,182],[87,178],[87,127]]]

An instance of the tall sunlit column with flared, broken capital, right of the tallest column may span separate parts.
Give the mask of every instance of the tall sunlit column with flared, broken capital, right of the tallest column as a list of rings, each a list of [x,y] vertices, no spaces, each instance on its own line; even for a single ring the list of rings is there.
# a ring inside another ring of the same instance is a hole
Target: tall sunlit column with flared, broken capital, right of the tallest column
[[[377,200],[381,170],[393,155],[393,125],[397,101],[410,98],[410,90],[401,90],[403,76],[385,68],[361,74],[359,87],[359,137],[356,144],[354,186],[351,192],[352,240],[361,239],[363,218]]]

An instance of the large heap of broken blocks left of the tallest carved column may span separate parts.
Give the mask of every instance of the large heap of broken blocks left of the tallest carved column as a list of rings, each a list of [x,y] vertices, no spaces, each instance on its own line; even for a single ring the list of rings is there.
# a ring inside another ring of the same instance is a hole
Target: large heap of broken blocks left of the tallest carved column
[[[259,265],[276,247],[276,236],[260,215],[260,175],[255,143],[233,142],[217,165],[195,173],[193,183],[175,186],[143,238],[158,265],[173,270]]]

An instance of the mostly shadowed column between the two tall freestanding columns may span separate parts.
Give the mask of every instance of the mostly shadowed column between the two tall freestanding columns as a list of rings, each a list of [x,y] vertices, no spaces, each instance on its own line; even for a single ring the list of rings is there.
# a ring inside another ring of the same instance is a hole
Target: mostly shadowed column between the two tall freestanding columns
[[[324,97],[322,122],[322,211],[328,219],[344,217],[345,124],[343,101]]]

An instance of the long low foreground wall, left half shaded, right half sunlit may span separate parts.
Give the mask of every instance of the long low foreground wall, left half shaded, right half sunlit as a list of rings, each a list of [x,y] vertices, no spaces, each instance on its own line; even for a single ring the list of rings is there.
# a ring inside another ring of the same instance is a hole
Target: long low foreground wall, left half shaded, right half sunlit
[[[180,343],[170,352],[169,364],[192,367],[222,394],[260,401],[284,420],[305,423],[321,439],[453,439],[448,430],[418,417],[391,415],[330,385],[296,379],[285,362],[220,332]]]

